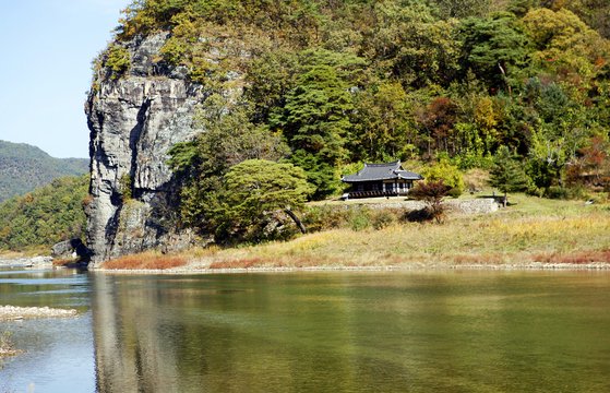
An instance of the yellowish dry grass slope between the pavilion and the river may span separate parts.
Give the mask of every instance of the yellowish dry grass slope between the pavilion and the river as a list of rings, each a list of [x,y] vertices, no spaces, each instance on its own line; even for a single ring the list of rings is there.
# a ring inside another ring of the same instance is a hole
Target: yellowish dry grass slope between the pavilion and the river
[[[491,218],[493,217],[493,218]],[[491,219],[490,219],[491,218]],[[610,213],[461,216],[443,225],[334,229],[288,242],[215,250],[211,269],[610,262]]]

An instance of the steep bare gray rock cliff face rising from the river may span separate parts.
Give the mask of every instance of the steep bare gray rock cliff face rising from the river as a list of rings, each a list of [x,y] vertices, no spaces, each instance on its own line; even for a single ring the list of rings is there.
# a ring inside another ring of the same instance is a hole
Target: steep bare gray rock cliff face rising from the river
[[[98,76],[98,88],[85,105],[93,195],[87,246],[94,252],[93,267],[110,258],[180,248],[192,240],[192,234],[179,231],[171,219],[176,190],[166,160],[175,143],[194,136],[194,107],[206,93],[184,80],[180,70],[154,63],[166,37],[158,34],[130,43],[129,75]],[[133,199],[123,203],[125,183]]]

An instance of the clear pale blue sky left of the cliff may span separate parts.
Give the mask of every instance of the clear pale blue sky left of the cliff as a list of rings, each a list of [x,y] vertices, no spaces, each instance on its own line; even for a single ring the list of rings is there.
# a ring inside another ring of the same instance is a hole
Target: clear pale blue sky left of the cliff
[[[131,0],[0,0],[0,140],[88,157],[92,61]]]

